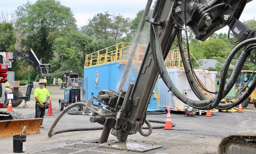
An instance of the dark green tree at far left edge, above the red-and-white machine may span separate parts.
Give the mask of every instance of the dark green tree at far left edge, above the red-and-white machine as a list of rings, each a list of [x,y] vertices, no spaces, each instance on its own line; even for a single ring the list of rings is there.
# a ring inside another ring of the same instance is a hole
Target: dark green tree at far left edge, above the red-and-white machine
[[[15,40],[13,24],[0,23],[0,52],[15,50]]]

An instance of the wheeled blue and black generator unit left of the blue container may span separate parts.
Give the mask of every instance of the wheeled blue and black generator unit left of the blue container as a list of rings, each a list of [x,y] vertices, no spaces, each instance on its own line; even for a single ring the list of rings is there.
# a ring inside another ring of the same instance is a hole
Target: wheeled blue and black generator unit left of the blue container
[[[80,89],[77,88],[66,88],[64,93],[64,99],[60,99],[60,111],[64,109],[64,106],[67,107],[75,102],[83,102],[83,99],[80,99]],[[82,111],[83,106],[78,106],[78,110]]]

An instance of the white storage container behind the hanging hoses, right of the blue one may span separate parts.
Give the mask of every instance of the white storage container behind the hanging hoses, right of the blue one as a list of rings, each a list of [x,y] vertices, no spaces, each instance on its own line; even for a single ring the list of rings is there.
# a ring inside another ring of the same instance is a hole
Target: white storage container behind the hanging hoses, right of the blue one
[[[216,79],[216,71],[208,71],[208,70],[201,70],[201,69],[194,69],[196,75],[201,80],[202,84],[205,85],[205,87],[209,91],[215,92],[215,79]],[[193,99],[193,100],[199,100],[194,92],[191,90],[191,87],[189,85],[189,82],[187,80],[187,76],[185,74],[185,70],[181,68],[175,68],[175,69],[167,69],[167,72],[169,73],[169,76],[171,77],[171,80],[173,81],[173,84],[177,87],[177,89],[183,94],[186,95],[186,97]],[[206,72],[208,76],[206,75]],[[213,81],[213,82],[212,82]],[[183,103],[177,97],[173,95],[171,91],[169,91],[168,87],[165,85],[162,79],[160,79],[160,93],[159,93],[159,108],[161,110],[166,110],[167,105],[170,105],[171,110],[173,111],[183,111],[184,106],[187,106],[187,104]],[[168,92],[169,91],[169,92]],[[213,94],[205,93],[206,97],[210,98],[213,96]]]

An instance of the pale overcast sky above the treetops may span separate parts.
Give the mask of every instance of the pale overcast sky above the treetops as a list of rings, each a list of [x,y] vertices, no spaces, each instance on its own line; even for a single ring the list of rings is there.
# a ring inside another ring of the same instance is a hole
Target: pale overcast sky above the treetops
[[[78,28],[87,25],[88,19],[97,13],[108,11],[110,14],[119,13],[125,18],[135,18],[136,14],[145,8],[148,0],[60,0],[62,5],[70,7],[77,20]],[[153,0],[155,1],[155,0]],[[30,0],[35,3],[36,0]],[[27,0],[0,0],[0,12],[14,12],[18,6],[27,3]],[[153,5],[153,4],[152,4]],[[256,0],[249,2],[240,17],[240,21],[250,20],[256,17]],[[228,27],[218,33],[228,33]]]

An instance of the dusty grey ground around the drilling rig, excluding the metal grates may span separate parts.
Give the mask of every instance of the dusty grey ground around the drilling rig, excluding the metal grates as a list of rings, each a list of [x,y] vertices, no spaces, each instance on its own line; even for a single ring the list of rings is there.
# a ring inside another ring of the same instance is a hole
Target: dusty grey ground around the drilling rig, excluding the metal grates
[[[36,87],[36,86],[35,86]],[[60,90],[59,87],[47,86],[51,97],[52,108],[59,108],[59,99],[64,98],[64,90]],[[21,105],[13,107],[15,112],[20,112],[26,118],[34,118],[34,97],[32,89],[31,100],[27,102],[28,108],[22,108],[24,101]],[[21,88],[23,94],[26,93],[25,88]],[[253,104],[249,104],[249,108],[254,108]],[[7,110],[3,108],[1,110]],[[247,109],[249,110],[249,109]],[[255,109],[250,109],[254,110]],[[58,116],[60,111],[54,110],[51,116],[45,115],[44,127],[40,129],[41,134],[29,135],[26,141],[25,153],[34,153],[54,149],[58,147],[64,147],[79,142],[88,142],[89,140],[97,140],[101,136],[101,130],[98,131],[77,131],[77,132],[65,132],[56,134],[53,137],[48,137],[48,131]],[[165,121],[167,114],[160,115],[147,115],[147,119]],[[175,131],[175,130],[164,130],[154,129],[153,132],[164,133],[164,134],[175,134],[185,136],[197,136],[202,137],[200,140],[189,142],[187,144],[181,144],[170,150],[169,153],[175,154],[217,154],[218,144],[225,136],[238,132],[256,132],[255,113],[244,112],[244,113],[225,113],[215,112],[212,113],[212,117],[205,117],[200,115],[199,117],[185,117],[183,113],[171,113],[172,123],[175,123],[175,127],[189,127],[192,131]],[[158,123],[151,123],[151,125],[163,125]],[[80,128],[80,127],[101,127],[98,123],[90,123],[89,116],[82,115],[68,115],[65,114],[57,124],[55,130],[67,129],[67,128]],[[146,130],[145,130],[146,131]],[[109,139],[115,139],[114,136],[110,135]],[[1,154],[9,154],[13,151],[13,140],[12,138],[0,139]]]

